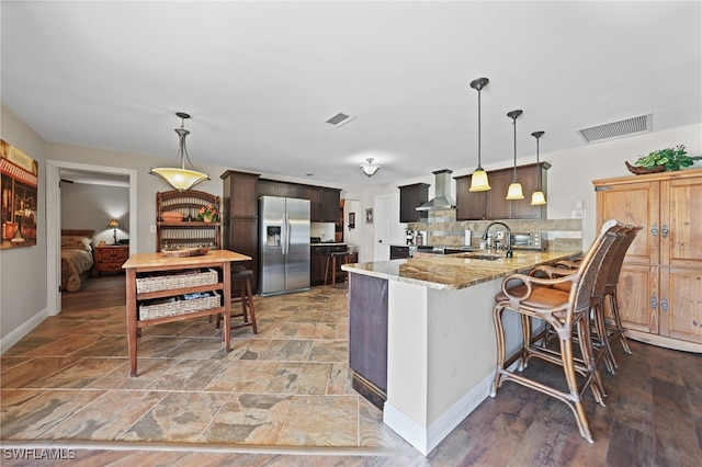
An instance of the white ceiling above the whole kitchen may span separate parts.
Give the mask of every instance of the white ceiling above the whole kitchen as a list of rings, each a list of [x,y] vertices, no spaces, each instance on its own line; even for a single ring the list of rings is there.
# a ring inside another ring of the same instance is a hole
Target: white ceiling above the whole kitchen
[[[702,119],[701,2],[2,1],[2,101],[49,141],[390,183]],[[356,118],[332,127],[343,112]],[[373,157],[383,169],[358,169]],[[212,174],[214,176],[218,174]]]

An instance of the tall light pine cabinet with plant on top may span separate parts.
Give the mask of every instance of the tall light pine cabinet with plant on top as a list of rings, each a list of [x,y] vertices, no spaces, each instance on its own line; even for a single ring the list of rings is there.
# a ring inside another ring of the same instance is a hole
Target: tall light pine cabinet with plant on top
[[[626,335],[702,352],[702,170],[593,181],[598,228],[642,227],[619,281]]]

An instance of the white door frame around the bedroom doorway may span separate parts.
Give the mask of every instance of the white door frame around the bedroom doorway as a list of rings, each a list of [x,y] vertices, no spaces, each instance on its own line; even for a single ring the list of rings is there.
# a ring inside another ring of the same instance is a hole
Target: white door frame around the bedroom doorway
[[[137,198],[136,176],[134,169],[120,167],[93,166],[88,163],[66,162],[60,160],[46,161],[46,286],[47,315],[58,315],[61,310],[61,293],[59,291],[61,276],[61,194],[60,169],[73,169],[84,172],[122,174],[129,178],[129,229],[137,232]],[[136,253],[137,237],[129,236],[129,255]]]

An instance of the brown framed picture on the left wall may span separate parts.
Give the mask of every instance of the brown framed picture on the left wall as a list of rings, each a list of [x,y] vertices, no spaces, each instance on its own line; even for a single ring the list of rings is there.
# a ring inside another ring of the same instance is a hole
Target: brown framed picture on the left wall
[[[33,247],[36,244],[38,163],[2,139],[0,156],[0,249]]]

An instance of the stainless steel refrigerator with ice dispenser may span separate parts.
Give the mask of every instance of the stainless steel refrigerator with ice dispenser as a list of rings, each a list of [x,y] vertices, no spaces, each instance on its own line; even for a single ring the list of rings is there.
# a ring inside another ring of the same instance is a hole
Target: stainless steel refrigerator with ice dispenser
[[[259,293],[309,289],[309,200],[259,197]]]

